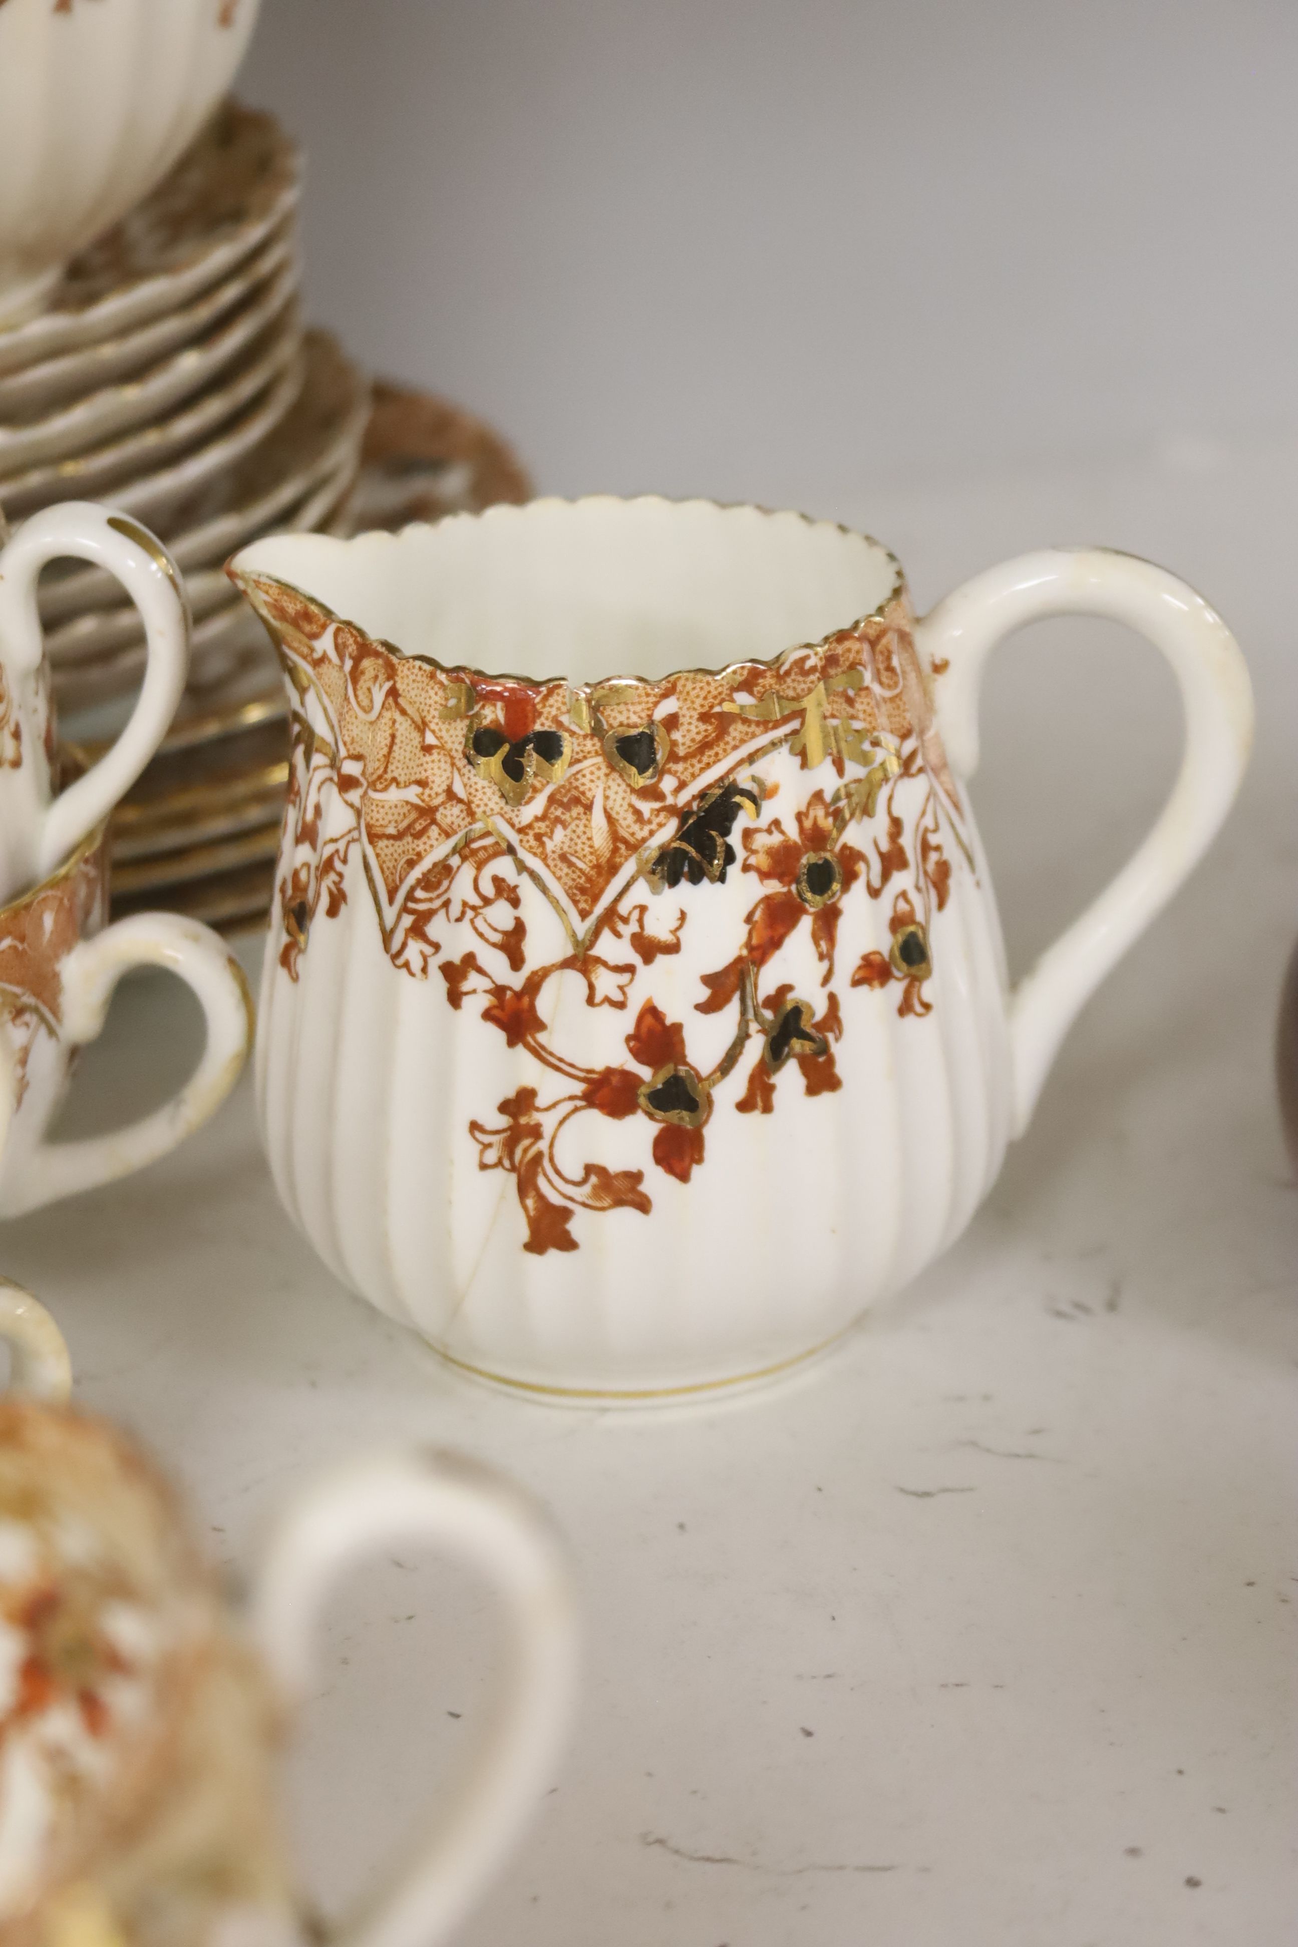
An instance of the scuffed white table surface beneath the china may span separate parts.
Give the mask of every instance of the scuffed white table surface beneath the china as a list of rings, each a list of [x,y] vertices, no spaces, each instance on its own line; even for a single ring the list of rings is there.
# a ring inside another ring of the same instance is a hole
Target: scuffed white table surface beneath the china
[[[1292,1941],[1298,1192],[1269,1063],[1298,929],[1296,506],[1277,440],[839,508],[920,606],[1057,539],[1185,570],[1261,726],[1228,831],[1086,1010],[967,1236],[782,1388],[629,1415],[455,1377],[298,1240],[247,1081],[165,1164],[6,1227],[80,1398],[140,1429],[232,1565],[313,1464],[397,1437],[494,1460],[570,1536],[580,1723],[465,1947]],[[1039,629],[985,722],[1022,964],[1166,789],[1172,689],[1121,631]],[[191,1036],[165,981],[128,985],[80,1125],[156,1098]],[[490,1604],[436,1565],[339,1606],[292,1764],[327,1898],[453,1789],[492,1663]]]

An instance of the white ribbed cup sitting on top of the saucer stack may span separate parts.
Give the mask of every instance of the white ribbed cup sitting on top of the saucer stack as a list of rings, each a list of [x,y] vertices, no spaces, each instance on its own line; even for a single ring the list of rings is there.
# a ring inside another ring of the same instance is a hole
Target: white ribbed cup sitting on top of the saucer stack
[[[220,101],[259,0],[4,0],[0,321],[171,167]]]

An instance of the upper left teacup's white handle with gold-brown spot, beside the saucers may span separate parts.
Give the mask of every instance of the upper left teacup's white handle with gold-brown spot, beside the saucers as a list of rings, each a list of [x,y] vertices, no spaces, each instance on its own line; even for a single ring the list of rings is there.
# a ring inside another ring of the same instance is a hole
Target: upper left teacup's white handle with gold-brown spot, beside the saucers
[[[84,777],[37,812],[35,859],[25,872],[33,884],[49,878],[130,790],[167,734],[189,674],[189,598],[162,541],[126,514],[93,500],[64,500],[25,520],[0,555],[4,674],[19,699],[31,695],[45,656],[37,580],[49,561],[66,555],[93,561],[123,584],[144,619],[148,656],[126,728]],[[31,718],[31,709],[25,715]]]

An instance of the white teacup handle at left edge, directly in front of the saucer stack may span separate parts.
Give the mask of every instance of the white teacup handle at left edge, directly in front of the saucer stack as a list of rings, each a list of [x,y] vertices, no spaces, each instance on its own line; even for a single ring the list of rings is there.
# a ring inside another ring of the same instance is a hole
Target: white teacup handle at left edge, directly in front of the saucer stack
[[[53,796],[49,691],[37,580],[49,561],[93,561],[125,586],[144,619],[144,685],[113,748]],[[21,765],[6,767],[0,822],[4,898],[49,878],[123,798],[162,744],[189,674],[189,600],[181,574],[148,528],[93,500],[64,500],[25,520],[0,555],[0,664],[21,736]],[[10,804],[12,798],[12,804]]]

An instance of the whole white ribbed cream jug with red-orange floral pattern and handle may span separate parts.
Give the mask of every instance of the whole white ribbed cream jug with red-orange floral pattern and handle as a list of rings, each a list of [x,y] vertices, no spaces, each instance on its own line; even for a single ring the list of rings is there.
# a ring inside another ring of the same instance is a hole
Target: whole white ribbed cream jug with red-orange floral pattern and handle
[[[232,574],[294,720],[276,1186],[354,1291],[539,1392],[765,1377],[922,1269],[1249,748],[1224,623],[1107,551],[919,623],[876,541],[701,500],[282,535]],[[1158,644],[1185,757],[1010,991],[965,781],[987,652],[1059,611]]]

